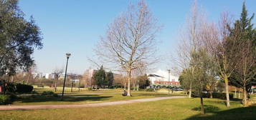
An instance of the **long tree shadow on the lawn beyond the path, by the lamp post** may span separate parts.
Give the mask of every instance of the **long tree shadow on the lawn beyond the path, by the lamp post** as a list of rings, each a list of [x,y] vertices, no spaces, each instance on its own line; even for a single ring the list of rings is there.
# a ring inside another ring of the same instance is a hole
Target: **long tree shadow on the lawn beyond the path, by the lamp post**
[[[18,99],[22,103],[35,103],[35,102],[46,102],[46,101],[102,101],[109,99],[113,96],[99,96],[97,94],[76,94],[76,95],[65,95],[64,99],[61,96],[42,96],[42,95],[33,95],[22,97]]]

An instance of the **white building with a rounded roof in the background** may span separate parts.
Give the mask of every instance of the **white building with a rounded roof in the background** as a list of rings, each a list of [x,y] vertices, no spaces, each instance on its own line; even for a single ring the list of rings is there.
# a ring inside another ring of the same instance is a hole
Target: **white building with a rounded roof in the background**
[[[163,71],[159,69],[158,71],[148,74],[148,79],[151,81],[151,84],[166,84],[166,85],[180,85],[179,76],[174,76],[170,74],[169,82],[169,71]]]

